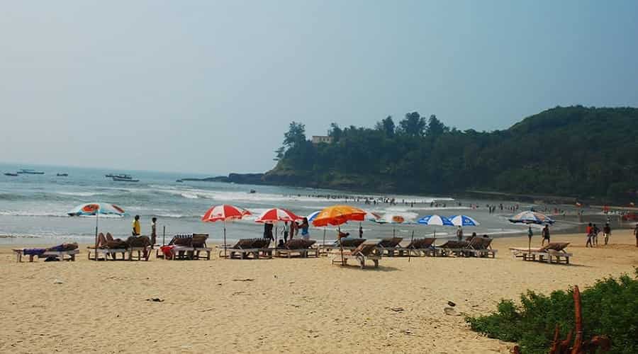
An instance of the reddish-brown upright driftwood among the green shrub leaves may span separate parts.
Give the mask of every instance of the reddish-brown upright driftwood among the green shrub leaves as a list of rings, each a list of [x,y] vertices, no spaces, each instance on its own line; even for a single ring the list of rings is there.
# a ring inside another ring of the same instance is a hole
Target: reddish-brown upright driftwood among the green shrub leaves
[[[600,349],[600,353],[608,352],[611,348],[611,342],[607,336],[593,336],[591,340],[586,341],[583,339],[583,309],[581,304],[581,291],[578,290],[578,286],[573,287],[573,307],[574,317],[576,319],[576,338],[573,340],[573,346],[571,346],[571,336],[573,336],[574,330],[569,331],[567,338],[561,341],[559,337],[559,326],[556,324],[554,329],[554,341],[552,341],[552,348],[549,349],[549,354],[595,354]],[[520,348],[514,346],[510,353],[521,354]]]

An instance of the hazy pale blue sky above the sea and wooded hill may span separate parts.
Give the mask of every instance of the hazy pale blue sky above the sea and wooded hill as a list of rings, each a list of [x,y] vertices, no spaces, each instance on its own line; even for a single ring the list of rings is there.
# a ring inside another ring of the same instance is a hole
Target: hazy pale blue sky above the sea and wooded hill
[[[3,1],[0,161],[228,173],[292,120],[638,106],[638,1]]]

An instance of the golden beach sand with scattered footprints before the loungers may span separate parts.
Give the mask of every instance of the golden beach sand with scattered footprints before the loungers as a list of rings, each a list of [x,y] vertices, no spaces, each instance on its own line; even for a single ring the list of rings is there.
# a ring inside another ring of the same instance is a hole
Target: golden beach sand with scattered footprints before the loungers
[[[580,234],[552,241],[572,242],[571,265],[513,259],[508,247],[527,236],[496,239],[496,259],[383,258],[366,270],[325,257],[94,262],[84,246],[76,262],[16,263],[4,246],[0,351],[508,353],[512,343],[470,331],[462,314],[638,265],[628,230],[596,249]]]

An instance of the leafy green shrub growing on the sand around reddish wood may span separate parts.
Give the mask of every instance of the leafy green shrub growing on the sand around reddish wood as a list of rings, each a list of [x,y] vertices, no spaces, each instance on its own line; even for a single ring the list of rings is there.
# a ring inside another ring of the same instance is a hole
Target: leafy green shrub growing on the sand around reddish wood
[[[556,324],[561,338],[574,328],[572,291],[547,296],[528,290],[521,295],[520,306],[503,299],[496,312],[466,321],[489,338],[517,342],[522,353],[547,353]],[[581,291],[581,302],[584,338],[604,334],[612,342],[610,353],[638,353],[638,280],[627,275],[598,280]]]

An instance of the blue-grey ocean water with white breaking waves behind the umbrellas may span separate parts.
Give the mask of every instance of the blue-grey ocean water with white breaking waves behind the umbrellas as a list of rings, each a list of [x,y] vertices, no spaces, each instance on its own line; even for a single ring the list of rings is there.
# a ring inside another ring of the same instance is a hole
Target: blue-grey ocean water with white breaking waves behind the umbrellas
[[[45,244],[77,241],[90,243],[94,239],[96,219],[94,217],[69,217],[67,212],[84,202],[110,202],[123,207],[125,217],[100,217],[99,231],[111,232],[116,237],[130,235],[131,222],[140,215],[142,234],[150,232],[151,217],[158,218],[159,241],[164,229],[167,241],[173,234],[203,232],[213,241],[223,239],[223,223],[203,223],[200,218],[209,207],[218,204],[233,204],[253,212],[253,217],[227,224],[228,240],[259,237],[263,225],[254,222],[254,217],[270,207],[284,207],[298,215],[309,215],[315,210],[337,203],[348,203],[391,219],[401,215],[408,222],[423,215],[439,214],[469,215],[481,225],[466,227],[464,232],[503,236],[526,232],[527,227],[508,222],[510,213],[500,210],[489,214],[486,204],[514,205],[507,201],[454,200],[443,191],[439,196],[377,195],[374,193],[347,193],[312,188],[289,188],[264,185],[235,185],[216,182],[177,183],[179,178],[205,177],[194,173],[160,173],[150,171],[117,171],[109,169],[79,169],[64,166],[28,166],[0,164],[0,172],[15,172],[18,169],[36,169],[44,175],[0,175],[0,238],[1,244]],[[69,173],[58,177],[57,173]],[[106,178],[106,173],[128,173],[139,178],[139,183],[115,182]],[[256,193],[249,193],[250,190]],[[320,195],[318,197],[317,195]],[[329,196],[329,197],[328,197]],[[365,205],[357,202],[357,196],[369,198],[395,198],[397,204],[379,202]],[[404,203],[405,201],[405,203]],[[414,202],[410,205],[410,202]],[[435,203],[434,205],[432,203]],[[459,206],[459,203],[461,204]],[[480,207],[472,208],[470,204]],[[532,205],[520,205],[525,210]],[[573,227],[571,222],[559,222],[554,229]],[[386,236],[426,236],[436,232],[437,237],[454,235],[449,227],[425,227],[419,224],[376,224],[362,222],[364,238],[380,239]],[[359,222],[342,226],[342,231],[357,236]],[[313,239],[323,241],[335,239],[335,227],[311,228]],[[540,229],[537,229],[540,232]]]

